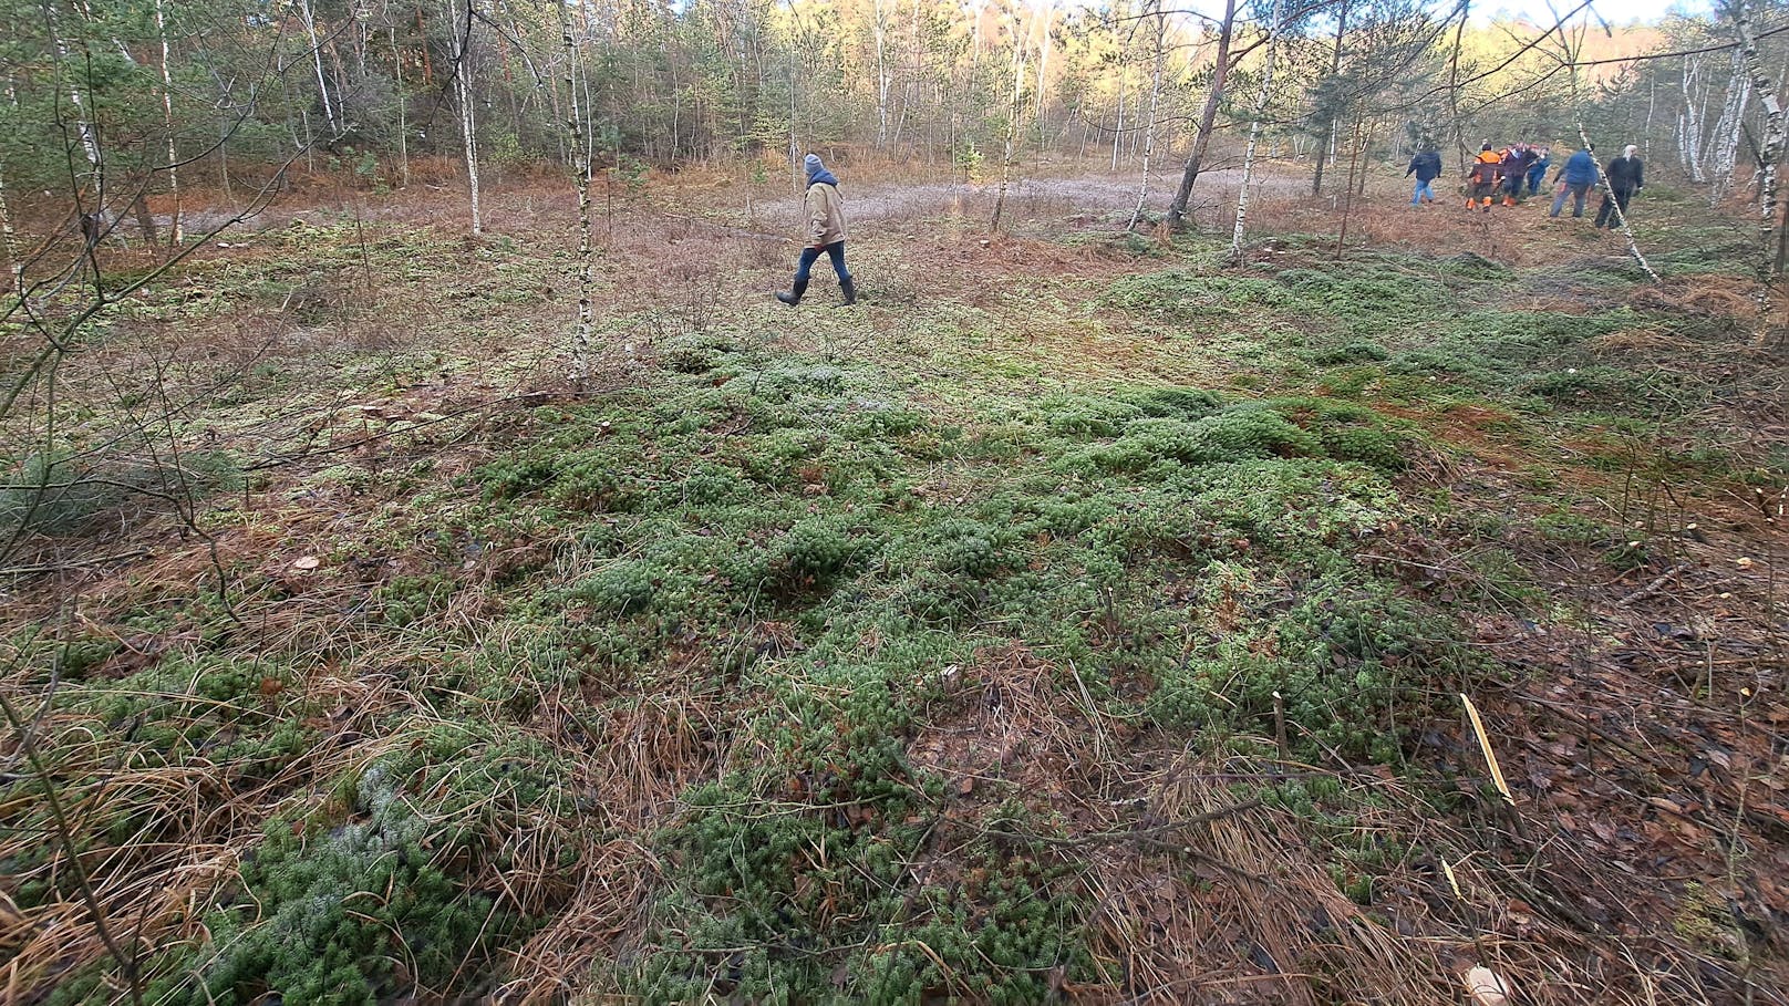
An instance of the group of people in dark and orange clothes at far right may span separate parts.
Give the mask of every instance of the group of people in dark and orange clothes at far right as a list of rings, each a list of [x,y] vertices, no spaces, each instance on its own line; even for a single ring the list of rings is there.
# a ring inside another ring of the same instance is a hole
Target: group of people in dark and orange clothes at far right
[[[1598,177],[1596,154],[1589,147],[1567,158],[1553,172],[1556,190],[1549,217],[1558,217],[1565,209],[1567,197],[1573,199],[1571,215],[1583,217],[1583,202],[1590,195],[1590,188],[1601,183],[1603,204],[1596,209],[1596,226],[1621,226],[1628,215],[1628,200],[1646,184],[1644,165],[1635,156],[1635,150],[1639,147],[1632,143],[1624,147],[1619,158],[1612,158],[1603,166],[1601,179]],[[1496,145],[1487,141],[1480,147],[1478,158],[1467,172],[1465,208],[1490,213],[1499,193],[1505,206],[1517,206],[1526,197],[1540,192],[1551,166],[1553,158],[1547,147],[1513,143],[1497,150]],[[1410,168],[1404,170],[1404,177],[1410,175],[1417,177],[1417,188],[1410,197],[1410,204],[1422,206],[1435,202],[1435,179],[1442,175],[1440,152],[1435,149],[1420,150],[1410,159]]]

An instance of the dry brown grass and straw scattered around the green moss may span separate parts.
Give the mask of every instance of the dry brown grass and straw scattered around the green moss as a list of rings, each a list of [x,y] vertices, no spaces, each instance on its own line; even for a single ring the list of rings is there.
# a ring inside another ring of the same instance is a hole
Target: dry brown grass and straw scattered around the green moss
[[[442,166],[440,184],[451,188],[454,175],[449,168],[453,165]],[[666,183],[653,197],[699,200],[712,192],[730,193],[725,184],[726,179],[691,172]],[[707,186],[716,188],[710,192]],[[447,195],[458,197],[458,192]],[[442,199],[442,193],[415,192],[381,213],[401,222],[438,218]],[[1061,211],[1052,199],[1039,197],[1032,209]],[[531,179],[492,193],[492,229],[530,234],[546,251],[562,249],[569,243],[564,226],[567,208],[569,193],[556,179]],[[1066,249],[1027,236],[988,236],[984,242],[970,227],[955,234],[934,233],[920,222],[920,209],[907,213],[911,217],[866,234],[864,245],[882,256],[878,295],[894,308],[862,322],[866,351],[887,351],[896,338],[907,338],[896,331],[900,304],[945,297],[1016,319],[1014,329],[1023,342],[1002,351],[1048,365],[1052,378],[1111,381],[1150,372],[1184,376],[1184,367],[1175,369],[1181,362],[1174,360],[1172,347],[1140,344],[1129,333],[1095,324],[1034,324],[1023,317],[1023,303],[1005,297],[1002,290],[1005,283],[1038,274],[1084,279],[1093,288],[1115,269],[1145,270],[1156,263],[1118,260],[1098,245]],[[605,320],[630,317],[624,329],[630,338],[605,344],[598,379],[581,388],[585,394],[649,381],[658,344],[674,335],[705,331],[750,299],[762,299],[764,290],[753,285],[767,290],[793,261],[793,243],[759,233],[776,231],[782,222],[741,227],[732,218],[658,213],[640,200],[617,209],[612,233],[606,224],[606,218],[599,222],[608,285],[601,311]],[[1256,224],[1263,231],[1310,231],[1333,226],[1335,215],[1308,200],[1276,195],[1263,199]],[[1505,243],[1508,234],[1487,229],[1497,224],[1467,218],[1446,204],[1431,211],[1408,211],[1397,202],[1361,206],[1356,208],[1354,226],[1372,245],[1397,243],[1437,254],[1462,247],[1517,258],[1542,254],[1540,249],[1512,251]],[[476,243],[462,245],[458,261],[463,269],[476,267]],[[352,269],[338,279],[360,283]],[[327,297],[309,320],[292,311],[263,317],[254,308],[243,308],[200,331],[168,324],[140,340],[107,344],[91,354],[93,374],[72,379],[66,394],[86,405],[107,401],[170,342],[182,342],[213,372],[242,371],[277,358],[299,374],[299,381],[331,388],[331,351],[347,347],[397,354],[431,345],[454,326],[469,333],[453,349],[474,367],[494,365],[506,353],[528,353],[530,367],[442,379],[440,387],[385,388],[360,394],[352,405],[381,410],[388,419],[478,406],[517,388],[562,392],[569,387],[555,340],[569,313],[567,288],[564,281],[555,281],[556,299],[517,306],[506,315],[535,326],[533,342],[521,337],[483,342],[476,331],[481,319],[420,297],[410,297],[395,319],[390,311]],[[369,304],[406,295],[404,288],[383,279],[367,281],[354,294]],[[1751,304],[1742,281],[1675,283],[1642,295],[1651,297],[1644,306],[1685,313],[1737,315]],[[1542,310],[1539,304],[1546,301],[1533,303]],[[819,345],[821,338],[837,338],[834,329],[855,324],[796,317],[809,328],[787,324],[776,338]],[[936,333],[927,338],[930,344],[923,349],[928,353],[962,353],[968,345]],[[1601,337],[1594,349],[1662,363],[1710,354],[1708,345],[1646,329]],[[1732,360],[1753,367],[1766,362],[1764,356]],[[435,716],[422,696],[397,682],[410,671],[420,677],[420,668],[444,653],[415,641],[392,644],[354,618],[372,585],[406,567],[401,562],[372,562],[333,573],[292,569],[292,558],[326,551],[333,537],[351,526],[345,514],[386,499],[377,494],[374,499],[352,498],[342,489],[317,490],[306,487],[302,476],[336,458],[369,471],[395,471],[426,456],[440,465],[445,478],[469,471],[485,451],[501,446],[517,430],[501,421],[501,412],[476,413],[444,424],[426,439],[395,444],[374,437],[365,421],[356,426],[336,405],[333,399],[304,401],[247,430],[222,433],[229,446],[268,455],[302,451],[313,442],[358,446],[272,469],[272,483],[256,489],[243,512],[216,533],[229,567],[258,584],[238,600],[249,632],[268,650],[318,655],[302,682],[302,698],[317,709],[329,741],[279,779],[238,789],[227,779],[227,766],[204,759],[179,766],[118,764],[116,752],[98,741],[102,730],[91,718],[52,712],[43,720],[45,734],[63,739],[61,772],[70,779],[89,779],[68,786],[72,806],[82,813],[102,806],[131,811],[147,822],[120,848],[95,856],[89,865],[98,879],[104,915],[116,920],[127,942],[168,945],[199,938],[202,922],[197,906],[231,881],[242,856],[259,841],[270,814],[290,809],[283,800],[290,797],[308,807],[320,806],[326,795],[317,789],[317,780],[356,772],[408,743],[408,727],[428,725]],[[1417,417],[1433,419],[1449,442],[1490,456],[1506,455],[1512,471],[1526,464],[1530,446],[1501,442],[1496,433],[1512,419],[1508,413],[1460,406],[1442,417]],[[961,496],[970,489],[950,478],[939,474],[927,483],[927,490]],[[1496,485],[1490,476],[1487,482]],[[1521,487],[1506,496],[1512,494],[1521,496]],[[116,634],[104,625],[123,605],[143,598],[186,598],[213,576],[204,542],[174,539],[170,544],[172,537],[166,523],[123,533],[118,544],[150,546],[154,560],[55,573],[39,584],[27,605],[30,610],[21,607],[14,614],[47,618],[63,596],[79,594],[82,610],[93,612],[95,621],[88,628]],[[494,612],[485,607],[490,580],[506,562],[544,566],[544,557],[553,555],[556,544],[494,548],[476,571],[483,582],[433,614],[437,621],[429,625],[456,627],[472,637],[488,635],[497,644],[510,643],[492,628]],[[1730,560],[1710,551],[1703,562],[1723,558]],[[1594,567],[1592,562],[1594,557],[1585,557],[1587,567]],[[1739,593],[1757,607],[1775,596],[1762,573],[1746,578],[1737,591],[1732,582],[1708,580],[1703,585],[1708,594]],[[1621,593],[1635,587],[1639,584],[1617,585]],[[1651,619],[1683,619],[1683,612],[1646,609],[1633,618],[1637,621],[1626,628],[1646,632]],[[191,632],[197,634],[197,628]],[[776,648],[789,644],[791,632],[762,623],[751,627],[750,635],[769,652],[780,652]],[[120,659],[111,668],[114,673],[127,673],[165,648],[195,644],[197,637],[175,632],[122,641],[134,653]],[[1762,664],[1764,659],[1757,662],[1757,673],[1776,673]],[[1723,687],[1757,687],[1757,680],[1741,675],[1741,666],[1723,664],[1723,675],[1728,669],[1734,677],[1723,677]],[[1657,695],[1660,680],[1633,682],[1633,702]],[[16,689],[20,698],[30,695],[23,682],[0,682],[0,687]],[[540,814],[535,827],[503,836],[515,868],[479,877],[483,886],[503,890],[513,904],[551,916],[537,936],[513,951],[508,968],[515,979],[499,992],[506,1002],[576,997],[585,990],[592,965],[612,963],[635,947],[642,911],[658,890],[664,868],[648,848],[648,832],[669,818],[678,795],[689,786],[744,757],[728,750],[725,737],[733,734],[728,709],[739,709],[750,696],[714,695],[689,684],[637,702],[617,702],[621,682],[596,680],[590,687],[592,695],[581,698],[594,702],[542,691],[526,723],[530,734],[565,754],[574,777],[571,789],[587,804],[567,814]],[[954,850],[979,836],[984,811],[1002,798],[1013,797],[1039,814],[1057,816],[1063,834],[1052,836],[1061,840],[1054,847],[1056,856],[1086,866],[1081,882],[1095,906],[1093,945],[1111,976],[1093,988],[1066,990],[1077,1001],[1458,1002],[1460,974],[1474,963],[1512,977],[1521,1001],[1537,1006],[1739,1001],[1728,995],[1742,988],[1734,977],[1734,965],[1673,940],[1669,920],[1642,918],[1639,911],[1615,913],[1619,936],[1598,933],[1603,924],[1596,920],[1567,924],[1573,913],[1585,918],[1585,908],[1578,904],[1583,899],[1614,908],[1624,900],[1646,904],[1639,900],[1639,891],[1646,890],[1648,877],[1612,877],[1608,848],[1590,843],[1581,832],[1546,829],[1539,847],[1524,847],[1503,818],[1487,814],[1467,823],[1444,823],[1426,813],[1422,795],[1392,779],[1285,764],[1265,754],[1272,750],[1267,739],[1233,737],[1231,750],[1254,752],[1247,757],[1190,754],[1159,734],[1140,732],[1132,723],[1098,712],[1073,666],[1018,643],[977,653],[973,664],[957,668],[946,678],[945,693],[946,698],[927,711],[909,741],[914,766],[954,786],[934,852],[916,865],[916,875],[927,882],[946,882],[961,872],[964,865]],[[161,698],[175,705],[195,702],[188,695]],[[599,716],[578,712],[592,703],[601,705]],[[1499,705],[1496,714],[1510,716],[1510,709]],[[408,727],[381,732],[381,721],[404,721]],[[1639,723],[1641,716],[1632,721]],[[1780,727],[1776,720],[1771,723],[1771,730]],[[1651,737],[1635,743],[1664,752],[1669,743],[1689,739],[1676,736],[1675,741]],[[0,755],[16,757],[13,745],[9,737]],[[1769,766],[1760,763],[1755,772],[1769,772]],[[1243,806],[1247,798],[1233,789],[1238,782],[1270,784],[1295,777],[1336,780],[1356,809],[1356,822],[1349,827],[1408,850],[1408,861],[1390,870],[1376,890],[1374,911],[1385,918],[1369,915],[1340,893],[1331,872],[1335,850],[1311,840],[1311,822],[1283,809]],[[0,807],[0,814],[7,811]],[[1524,807],[1537,820],[1551,813],[1535,811]],[[569,834],[553,823],[555,818],[581,818],[587,827]],[[5,856],[23,843],[41,841],[41,836],[11,834],[0,841],[0,856]],[[555,850],[562,848],[576,850],[574,866],[558,866]],[[1444,861],[1458,881],[1458,895],[1440,866]],[[66,863],[52,859],[48,868],[66,868]],[[104,952],[86,909],[70,899],[29,915],[0,900],[0,951],[9,958],[0,979],[9,999]],[[1759,993],[1757,1001],[1773,999]]]

